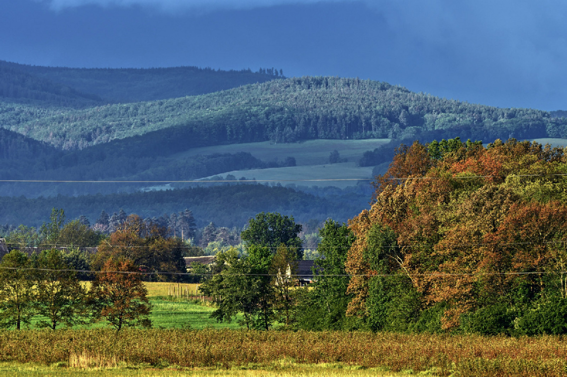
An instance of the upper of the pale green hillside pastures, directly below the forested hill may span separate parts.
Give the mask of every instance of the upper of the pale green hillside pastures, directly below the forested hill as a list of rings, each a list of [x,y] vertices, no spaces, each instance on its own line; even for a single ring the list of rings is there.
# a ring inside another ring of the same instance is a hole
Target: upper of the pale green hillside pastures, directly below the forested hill
[[[171,157],[183,158],[195,155],[211,155],[213,153],[249,152],[252,156],[263,161],[273,161],[274,158],[278,158],[281,161],[286,157],[295,157],[295,162],[298,166],[321,165],[329,162],[329,154],[335,149],[340,153],[341,158],[347,158],[350,162],[356,162],[362,157],[364,152],[374,150],[374,148],[389,142],[390,139],[318,139],[280,144],[272,142],[227,144],[192,148]]]

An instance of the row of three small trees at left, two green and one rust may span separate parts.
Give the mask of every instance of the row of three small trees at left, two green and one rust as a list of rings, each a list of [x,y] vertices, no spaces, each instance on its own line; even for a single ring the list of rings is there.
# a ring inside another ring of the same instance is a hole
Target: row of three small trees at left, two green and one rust
[[[117,331],[150,326],[146,288],[128,259],[108,259],[87,290],[58,249],[28,254],[12,250],[0,262],[0,327],[35,325],[55,330],[108,321]]]

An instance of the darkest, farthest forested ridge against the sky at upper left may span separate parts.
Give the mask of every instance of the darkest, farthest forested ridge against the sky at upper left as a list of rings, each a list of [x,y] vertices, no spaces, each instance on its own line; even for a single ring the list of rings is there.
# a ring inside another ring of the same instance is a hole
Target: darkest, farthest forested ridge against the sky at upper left
[[[223,71],[189,66],[66,68],[5,61],[0,61],[0,72],[0,97],[79,108],[109,102],[154,101],[202,95],[283,78],[283,71],[274,68],[260,68],[257,72],[252,72],[250,68]]]

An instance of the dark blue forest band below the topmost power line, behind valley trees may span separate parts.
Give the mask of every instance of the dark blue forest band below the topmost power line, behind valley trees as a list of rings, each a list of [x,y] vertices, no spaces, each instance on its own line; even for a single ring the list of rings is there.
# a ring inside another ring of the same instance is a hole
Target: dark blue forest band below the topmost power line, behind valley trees
[[[293,188],[253,183],[77,197],[0,196],[0,224],[37,227],[49,217],[53,207],[64,208],[68,219],[84,215],[93,224],[103,210],[112,213],[124,208],[128,213],[151,218],[177,212],[181,207],[191,209],[200,228],[211,221],[219,226],[242,228],[263,211],[290,215],[299,222],[324,221],[328,217],[346,222],[353,213],[369,207],[369,197],[368,190],[335,189],[327,197],[320,197]]]

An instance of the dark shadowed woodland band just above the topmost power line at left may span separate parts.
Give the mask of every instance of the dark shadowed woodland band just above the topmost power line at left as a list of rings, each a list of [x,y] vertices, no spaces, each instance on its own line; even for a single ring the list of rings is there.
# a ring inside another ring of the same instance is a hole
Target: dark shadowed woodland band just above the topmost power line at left
[[[7,130],[0,130],[0,136]],[[0,172],[5,179],[81,179],[104,180],[187,180],[230,172],[231,170],[295,166],[295,158],[284,161],[261,161],[248,152],[213,153],[188,157],[155,156],[148,152],[129,153],[112,148],[86,149],[62,153],[49,145],[29,139],[9,137],[0,140],[0,156],[6,156]],[[108,153],[107,153],[108,152]],[[41,161],[40,161],[41,160]]]

